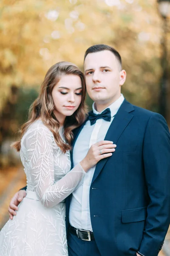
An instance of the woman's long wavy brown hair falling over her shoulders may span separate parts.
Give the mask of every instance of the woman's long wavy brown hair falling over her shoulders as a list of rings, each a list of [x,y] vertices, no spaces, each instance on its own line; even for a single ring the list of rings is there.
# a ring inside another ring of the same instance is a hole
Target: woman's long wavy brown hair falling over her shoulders
[[[79,76],[82,81],[82,100],[79,108],[74,112],[72,116],[66,116],[64,122],[64,135],[67,143],[64,143],[59,135],[59,121],[54,115],[54,101],[52,98],[52,90],[54,86],[59,82],[62,76],[73,74]],[[28,127],[37,119],[41,118],[42,122],[53,133],[54,139],[65,153],[71,149],[71,140],[73,139],[73,132],[75,128],[79,127],[86,119],[87,107],[85,104],[85,77],[81,70],[70,62],[62,61],[54,64],[46,73],[45,79],[40,87],[40,93],[37,99],[32,103],[28,121],[24,123],[20,129],[20,140],[14,142],[11,146],[20,151],[21,139],[23,134],[27,131]]]

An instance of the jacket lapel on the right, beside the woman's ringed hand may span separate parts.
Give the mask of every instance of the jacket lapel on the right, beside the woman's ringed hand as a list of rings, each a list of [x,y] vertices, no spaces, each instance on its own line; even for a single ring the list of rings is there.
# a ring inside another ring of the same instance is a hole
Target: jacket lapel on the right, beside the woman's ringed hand
[[[105,140],[111,140],[111,141],[113,141],[114,144],[117,143],[122,132],[125,130],[126,126],[130,122],[130,120],[133,118],[133,114],[130,113],[133,110],[134,110],[133,105],[131,105],[126,100],[124,100],[124,102],[122,103],[121,107],[119,108],[118,112],[116,113],[116,116],[114,117],[114,119],[108,129],[108,132],[105,136]],[[108,157],[100,160],[97,163],[92,183],[94,182],[96,177],[101,172],[101,170],[104,167],[107,160],[108,160]]]

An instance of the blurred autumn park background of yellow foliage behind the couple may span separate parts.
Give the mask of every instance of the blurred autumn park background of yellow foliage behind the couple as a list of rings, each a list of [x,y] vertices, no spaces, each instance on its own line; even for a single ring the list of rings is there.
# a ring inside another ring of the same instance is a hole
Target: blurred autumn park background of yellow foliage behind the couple
[[[170,126],[170,0],[1,0],[0,227],[11,196],[26,184],[10,144],[46,71],[58,61],[83,70],[85,50],[93,44],[119,51],[126,99],[161,113]],[[87,103],[91,108],[88,97]]]

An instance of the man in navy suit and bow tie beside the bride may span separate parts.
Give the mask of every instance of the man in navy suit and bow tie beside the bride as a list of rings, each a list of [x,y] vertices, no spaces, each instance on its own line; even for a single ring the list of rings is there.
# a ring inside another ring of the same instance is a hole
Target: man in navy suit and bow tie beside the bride
[[[170,224],[167,123],[125,100],[126,72],[112,47],[88,48],[84,68],[95,103],[74,132],[72,167],[100,140],[112,140],[117,147],[66,199],[69,256],[157,256]],[[24,193],[17,193],[18,201]],[[14,204],[16,197],[13,209]]]

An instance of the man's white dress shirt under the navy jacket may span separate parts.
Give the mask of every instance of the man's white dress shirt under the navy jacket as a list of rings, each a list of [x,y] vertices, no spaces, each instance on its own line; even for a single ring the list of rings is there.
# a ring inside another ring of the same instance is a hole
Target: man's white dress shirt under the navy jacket
[[[113,118],[119,110],[120,106],[122,105],[124,99],[124,96],[121,94],[119,99],[117,99],[116,102],[113,102],[108,107],[111,110],[110,122],[105,121],[104,119],[97,119],[94,125],[91,125],[89,120],[85,123],[74,145],[74,166],[82,161],[82,159],[88,153],[91,145],[105,139],[108,128],[111,125],[111,122],[113,121]],[[93,112],[95,114],[99,114],[99,112],[97,112],[94,108],[94,103]],[[76,227],[77,229],[93,231],[91,227],[89,193],[95,168],[96,166],[94,166],[87,172],[82,182],[79,184],[78,188],[72,193],[69,211],[69,221],[71,226]]]

